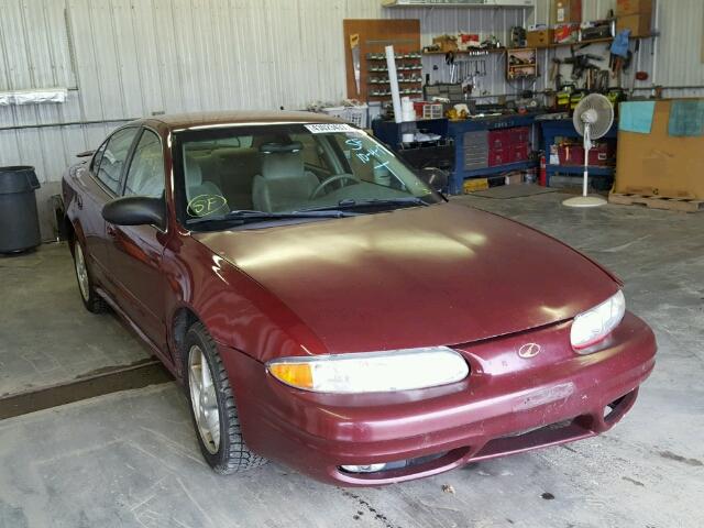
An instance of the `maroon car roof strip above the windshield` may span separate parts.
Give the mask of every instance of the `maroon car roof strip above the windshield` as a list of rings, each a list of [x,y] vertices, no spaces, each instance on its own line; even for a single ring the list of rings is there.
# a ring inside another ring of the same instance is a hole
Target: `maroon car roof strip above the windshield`
[[[154,116],[140,122],[155,122],[170,130],[193,127],[246,124],[246,123],[342,123],[339,118],[326,113],[289,112],[289,111],[220,111],[189,112]]]

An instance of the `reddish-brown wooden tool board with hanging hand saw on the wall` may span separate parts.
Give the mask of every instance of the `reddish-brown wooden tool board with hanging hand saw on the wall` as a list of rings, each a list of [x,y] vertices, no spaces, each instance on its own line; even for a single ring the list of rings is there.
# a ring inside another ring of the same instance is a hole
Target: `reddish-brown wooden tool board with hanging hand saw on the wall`
[[[385,61],[370,61],[369,54],[384,54],[384,48],[388,45],[394,46],[396,54],[420,53],[420,20],[378,20],[378,19],[345,19],[343,21],[344,29],[344,57],[345,57],[345,70],[346,70],[346,86],[348,98],[359,99],[361,101],[366,100],[391,100],[391,96],[374,97],[370,96],[371,86],[369,84],[370,67],[378,65],[386,67]],[[354,81],[354,67],[352,63],[352,50],[350,47],[350,37],[352,35],[359,35],[360,45],[360,90],[356,89]],[[397,59],[396,66],[402,65],[416,65],[420,66],[420,58]],[[399,70],[399,76],[409,76],[415,73],[420,78],[422,72],[420,69],[414,70]],[[385,77],[385,72],[371,72],[372,77]],[[388,85],[384,85],[388,87]],[[421,82],[403,84],[399,88],[420,89]],[[418,97],[418,96],[416,96]]]

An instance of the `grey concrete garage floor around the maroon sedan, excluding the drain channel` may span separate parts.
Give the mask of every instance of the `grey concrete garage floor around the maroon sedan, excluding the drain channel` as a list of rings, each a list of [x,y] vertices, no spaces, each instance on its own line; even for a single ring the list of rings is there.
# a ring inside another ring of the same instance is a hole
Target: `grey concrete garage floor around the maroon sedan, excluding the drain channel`
[[[553,234],[625,279],[629,308],[651,323],[660,351],[635,408],[608,433],[382,488],[327,486],[277,464],[220,477],[200,459],[184,396],[165,384],[0,421],[0,527],[701,527],[704,215],[569,210],[561,198],[459,200]],[[85,340],[103,356],[135,358],[140,346],[111,316],[80,312],[70,262],[51,251],[26,258],[53,264],[0,285],[24,314],[0,321],[0,358],[12,354],[9,330],[25,353],[38,339],[59,364]],[[65,312],[45,308],[68,296]],[[4,365],[2,380],[34,375]]]

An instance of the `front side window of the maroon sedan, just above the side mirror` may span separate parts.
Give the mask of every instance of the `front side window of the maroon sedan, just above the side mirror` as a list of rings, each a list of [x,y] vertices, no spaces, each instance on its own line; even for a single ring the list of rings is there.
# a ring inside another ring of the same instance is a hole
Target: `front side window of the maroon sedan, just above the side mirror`
[[[145,130],[134,148],[130,163],[124,196],[148,196],[161,198],[164,194],[164,156],[158,136]]]

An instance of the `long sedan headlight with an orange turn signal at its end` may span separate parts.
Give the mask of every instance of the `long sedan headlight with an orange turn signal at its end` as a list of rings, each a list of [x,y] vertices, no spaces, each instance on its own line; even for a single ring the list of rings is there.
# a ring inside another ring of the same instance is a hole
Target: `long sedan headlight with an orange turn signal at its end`
[[[285,358],[266,369],[292,387],[318,393],[377,393],[435,387],[464,380],[464,359],[447,346]]]

